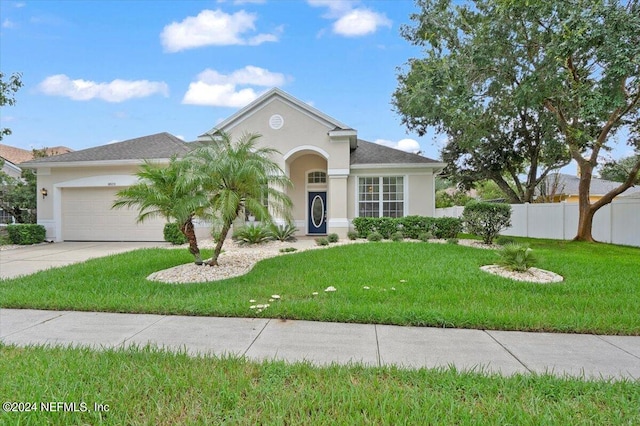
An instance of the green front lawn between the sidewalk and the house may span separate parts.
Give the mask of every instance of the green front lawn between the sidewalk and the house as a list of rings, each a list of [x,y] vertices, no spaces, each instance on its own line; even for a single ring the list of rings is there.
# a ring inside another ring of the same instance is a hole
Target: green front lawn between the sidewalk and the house
[[[0,305],[640,335],[640,249],[518,241],[531,246],[538,267],[565,282],[539,285],[484,273],[479,266],[498,260],[491,250],[367,243],[279,256],[234,279],[172,285],[145,277],[190,262],[190,255],[145,249],[0,281]],[[337,291],[325,293],[328,286]],[[249,309],[250,299],[267,303],[272,294],[282,298],[266,311]]]

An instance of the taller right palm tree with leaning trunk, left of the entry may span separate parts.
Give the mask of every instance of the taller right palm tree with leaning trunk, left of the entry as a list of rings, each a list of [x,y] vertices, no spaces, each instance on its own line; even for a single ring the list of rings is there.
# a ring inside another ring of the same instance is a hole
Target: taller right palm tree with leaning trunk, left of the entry
[[[192,177],[208,194],[212,214],[222,223],[213,256],[207,262],[210,266],[218,265],[231,225],[245,209],[263,220],[271,219],[272,212],[290,217],[292,202],[281,189],[291,186],[291,181],[272,160],[279,152],[257,146],[260,137],[245,133],[234,143],[230,134],[219,131],[210,144],[185,158],[194,167]]]

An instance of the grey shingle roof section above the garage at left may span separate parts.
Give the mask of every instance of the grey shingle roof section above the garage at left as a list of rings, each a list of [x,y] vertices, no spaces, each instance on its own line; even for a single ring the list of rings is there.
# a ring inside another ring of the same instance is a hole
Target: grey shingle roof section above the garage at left
[[[170,133],[157,133],[141,138],[129,139],[109,145],[101,145],[53,157],[38,158],[23,165],[51,164],[72,161],[142,160],[170,158],[185,154],[190,148]]]

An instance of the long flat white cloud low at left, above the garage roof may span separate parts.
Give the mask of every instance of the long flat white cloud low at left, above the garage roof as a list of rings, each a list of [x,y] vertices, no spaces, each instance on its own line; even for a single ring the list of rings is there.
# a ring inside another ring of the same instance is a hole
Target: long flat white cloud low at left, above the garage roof
[[[107,102],[123,102],[155,94],[169,96],[169,86],[163,81],[117,79],[109,83],[97,83],[89,80],[71,80],[64,74],[45,78],[38,85],[38,90],[45,95],[63,96],[74,101],[102,99]]]

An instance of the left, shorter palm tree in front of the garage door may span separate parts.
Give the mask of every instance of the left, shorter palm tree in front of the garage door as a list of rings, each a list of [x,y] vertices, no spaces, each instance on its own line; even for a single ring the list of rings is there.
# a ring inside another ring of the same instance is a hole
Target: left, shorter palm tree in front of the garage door
[[[207,199],[197,186],[188,183],[193,182],[189,174],[189,164],[175,157],[166,167],[145,161],[136,173],[140,182],[118,191],[112,208],[138,207],[138,222],[158,216],[175,220],[189,241],[195,263],[202,265],[193,218],[203,213]]]

